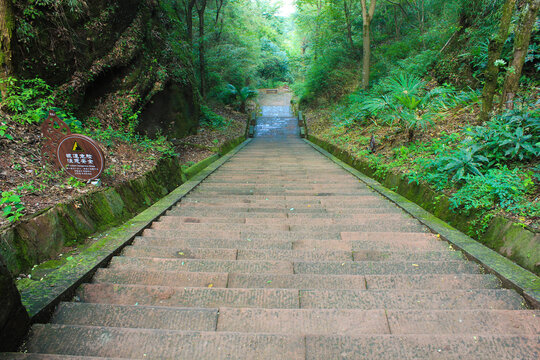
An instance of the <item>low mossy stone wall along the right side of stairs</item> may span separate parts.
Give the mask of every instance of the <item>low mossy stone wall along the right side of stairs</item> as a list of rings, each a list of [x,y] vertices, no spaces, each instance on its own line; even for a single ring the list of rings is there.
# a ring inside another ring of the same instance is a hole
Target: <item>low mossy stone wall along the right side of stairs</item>
[[[469,233],[471,227],[471,213],[464,214],[450,208],[449,198],[431,189],[427,184],[409,183],[402,174],[388,171],[384,176],[376,172],[376,168],[364,159],[329,144],[315,136],[308,135],[309,141],[322,147],[341,161],[349,164],[365,175],[377,180],[385,187],[394,190],[401,196],[420,205],[439,219],[451,224],[458,230]],[[529,230],[510,219],[495,216],[489,222],[487,230],[476,240],[499,252],[516,262],[527,270],[540,273],[540,234]]]

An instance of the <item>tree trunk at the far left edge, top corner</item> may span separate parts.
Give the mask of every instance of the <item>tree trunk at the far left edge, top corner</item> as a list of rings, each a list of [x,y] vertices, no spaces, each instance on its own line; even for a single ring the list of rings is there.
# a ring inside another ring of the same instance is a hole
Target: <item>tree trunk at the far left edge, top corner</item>
[[[11,0],[0,0],[0,79],[7,79],[13,74],[13,52],[11,38],[15,28],[15,18]],[[6,86],[0,84],[2,97],[5,95]]]

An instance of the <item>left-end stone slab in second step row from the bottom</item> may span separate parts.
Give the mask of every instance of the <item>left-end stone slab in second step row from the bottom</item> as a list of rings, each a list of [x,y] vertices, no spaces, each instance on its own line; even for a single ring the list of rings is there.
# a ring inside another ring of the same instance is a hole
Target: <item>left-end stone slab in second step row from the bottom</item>
[[[217,309],[61,303],[51,323],[185,331],[215,331]]]

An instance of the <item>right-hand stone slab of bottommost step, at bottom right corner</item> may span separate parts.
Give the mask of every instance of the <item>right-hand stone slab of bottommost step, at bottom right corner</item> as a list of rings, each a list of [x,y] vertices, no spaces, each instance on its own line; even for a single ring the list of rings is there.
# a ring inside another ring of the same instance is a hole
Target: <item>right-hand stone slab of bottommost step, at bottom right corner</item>
[[[537,335],[312,335],[306,359],[532,360],[540,355],[539,341]]]

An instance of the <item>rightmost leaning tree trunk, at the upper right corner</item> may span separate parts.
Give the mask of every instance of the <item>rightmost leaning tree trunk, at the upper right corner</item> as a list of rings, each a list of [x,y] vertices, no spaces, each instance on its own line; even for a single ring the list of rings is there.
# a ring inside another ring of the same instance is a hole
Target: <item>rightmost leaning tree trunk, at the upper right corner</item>
[[[519,27],[514,39],[514,57],[510,66],[510,69],[512,70],[507,71],[506,73],[500,104],[501,108],[505,105],[507,109],[514,108],[513,100],[518,90],[521,71],[523,70],[523,64],[525,64],[525,58],[527,57],[527,51],[529,49],[532,28],[536,22],[536,15],[538,14],[539,8],[540,0],[529,0],[521,13],[518,22]]]

